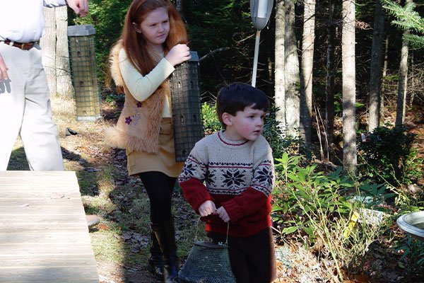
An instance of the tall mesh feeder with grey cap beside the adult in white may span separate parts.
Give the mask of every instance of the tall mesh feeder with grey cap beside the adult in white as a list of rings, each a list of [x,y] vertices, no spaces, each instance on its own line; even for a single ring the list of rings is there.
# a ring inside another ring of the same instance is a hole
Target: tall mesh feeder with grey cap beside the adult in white
[[[68,27],[69,59],[78,121],[92,121],[102,117],[94,34],[93,25]]]

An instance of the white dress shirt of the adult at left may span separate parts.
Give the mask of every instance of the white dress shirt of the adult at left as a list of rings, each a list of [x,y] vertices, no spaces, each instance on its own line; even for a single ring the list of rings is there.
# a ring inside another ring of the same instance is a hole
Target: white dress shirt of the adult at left
[[[64,5],[65,0],[0,0],[0,40],[40,40],[45,33],[43,6]]]

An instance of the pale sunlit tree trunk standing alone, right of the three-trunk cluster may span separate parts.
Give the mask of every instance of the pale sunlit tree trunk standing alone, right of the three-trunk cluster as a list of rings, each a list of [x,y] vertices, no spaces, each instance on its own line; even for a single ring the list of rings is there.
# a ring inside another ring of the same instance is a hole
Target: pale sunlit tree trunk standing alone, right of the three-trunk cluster
[[[343,1],[343,30],[341,35],[343,78],[343,166],[356,171],[355,134],[355,1]]]

